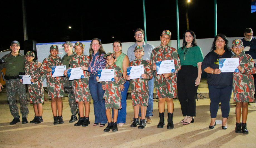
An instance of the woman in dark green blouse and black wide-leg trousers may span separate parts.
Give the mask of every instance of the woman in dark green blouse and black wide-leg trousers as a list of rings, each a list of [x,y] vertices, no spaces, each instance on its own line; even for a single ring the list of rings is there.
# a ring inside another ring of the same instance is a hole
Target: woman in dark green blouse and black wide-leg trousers
[[[196,35],[192,30],[183,33],[183,46],[178,49],[181,70],[178,72],[178,98],[184,125],[194,122],[196,116],[195,96],[201,79],[203,53],[196,44]]]

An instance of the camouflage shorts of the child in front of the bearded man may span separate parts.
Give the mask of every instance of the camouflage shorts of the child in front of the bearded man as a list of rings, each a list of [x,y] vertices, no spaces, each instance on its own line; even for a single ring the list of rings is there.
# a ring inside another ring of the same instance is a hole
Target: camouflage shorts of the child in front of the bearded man
[[[132,106],[148,106],[148,94],[149,92],[131,92]]]

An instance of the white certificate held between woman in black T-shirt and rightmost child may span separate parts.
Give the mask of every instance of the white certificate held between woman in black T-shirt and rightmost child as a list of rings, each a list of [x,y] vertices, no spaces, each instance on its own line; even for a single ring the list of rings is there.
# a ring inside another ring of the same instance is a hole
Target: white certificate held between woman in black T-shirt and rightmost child
[[[221,72],[239,72],[239,58],[219,59],[219,69]]]

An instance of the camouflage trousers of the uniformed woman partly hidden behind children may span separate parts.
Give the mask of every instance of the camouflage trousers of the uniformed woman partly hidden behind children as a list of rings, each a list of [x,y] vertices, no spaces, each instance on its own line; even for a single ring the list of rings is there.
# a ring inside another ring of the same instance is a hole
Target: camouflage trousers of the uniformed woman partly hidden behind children
[[[69,107],[70,107],[70,111],[72,115],[76,114],[76,111],[79,114],[79,110],[78,110],[78,103],[75,100],[75,95],[73,93],[73,86],[72,86],[72,82],[68,81],[68,78],[65,77],[64,78],[64,88],[65,88],[65,93],[68,94],[68,103],[69,103]]]

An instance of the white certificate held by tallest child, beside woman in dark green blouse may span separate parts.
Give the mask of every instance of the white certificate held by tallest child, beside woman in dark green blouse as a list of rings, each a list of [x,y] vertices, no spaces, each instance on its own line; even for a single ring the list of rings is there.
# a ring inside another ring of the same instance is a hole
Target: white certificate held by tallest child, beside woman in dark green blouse
[[[174,60],[156,61],[156,73],[165,74],[175,72]]]

